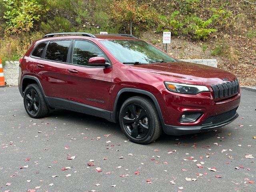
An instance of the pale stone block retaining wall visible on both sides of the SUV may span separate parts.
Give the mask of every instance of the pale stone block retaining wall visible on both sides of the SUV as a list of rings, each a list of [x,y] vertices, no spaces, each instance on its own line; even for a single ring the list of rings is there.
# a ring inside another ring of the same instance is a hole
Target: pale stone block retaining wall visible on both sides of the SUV
[[[216,59],[181,59],[182,61],[198,63],[217,67],[218,62]],[[7,85],[17,86],[19,76],[19,61],[7,61],[4,65],[4,78]]]

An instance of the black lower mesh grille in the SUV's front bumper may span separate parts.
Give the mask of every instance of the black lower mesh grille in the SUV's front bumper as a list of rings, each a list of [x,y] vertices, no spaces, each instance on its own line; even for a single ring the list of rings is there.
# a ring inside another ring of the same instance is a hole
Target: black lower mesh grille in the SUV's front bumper
[[[209,125],[209,124],[218,125],[218,124],[223,124],[225,122],[228,122],[228,120],[236,116],[236,110],[237,110],[237,107],[228,112],[224,112],[216,116],[209,117],[204,121],[202,125]]]

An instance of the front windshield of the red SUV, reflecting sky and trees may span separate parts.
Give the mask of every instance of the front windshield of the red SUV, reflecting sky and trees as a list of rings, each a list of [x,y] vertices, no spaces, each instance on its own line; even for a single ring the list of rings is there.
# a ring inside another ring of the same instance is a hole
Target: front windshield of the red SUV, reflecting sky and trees
[[[144,41],[102,40],[110,53],[125,64],[149,64],[175,61],[174,58]]]

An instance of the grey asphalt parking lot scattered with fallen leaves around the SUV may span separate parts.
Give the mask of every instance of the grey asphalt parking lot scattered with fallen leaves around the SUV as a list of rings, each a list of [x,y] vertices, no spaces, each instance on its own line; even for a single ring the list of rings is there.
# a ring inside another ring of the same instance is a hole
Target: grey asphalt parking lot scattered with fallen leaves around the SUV
[[[0,88],[0,192],[255,192],[256,92],[242,90],[238,113],[218,131],[139,145],[85,114],[32,119],[17,87]]]

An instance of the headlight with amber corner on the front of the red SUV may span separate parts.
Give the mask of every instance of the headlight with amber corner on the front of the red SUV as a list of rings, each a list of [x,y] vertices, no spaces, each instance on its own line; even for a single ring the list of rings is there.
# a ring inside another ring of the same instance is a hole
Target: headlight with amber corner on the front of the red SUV
[[[166,88],[169,91],[183,94],[198,94],[200,92],[210,91],[206,86],[202,85],[190,85],[185,83],[173,83],[173,82],[164,82]]]

